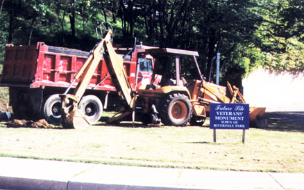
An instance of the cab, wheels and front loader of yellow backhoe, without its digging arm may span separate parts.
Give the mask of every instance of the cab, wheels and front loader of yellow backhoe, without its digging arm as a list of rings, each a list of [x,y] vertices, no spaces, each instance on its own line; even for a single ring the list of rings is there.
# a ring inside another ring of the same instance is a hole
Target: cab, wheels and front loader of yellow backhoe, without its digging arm
[[[136,92],[135,107],[132,109],[145,124],[162,122],[164,125],[203,125],[210,112],[210,103],[246,103],[235,86],[228,83],[231,98],[226,96],[226,87],[212,84],[203,79],[196,61],[198,52],[159,48],[146,49],[144,54],[155,58],[155,70],[151,84]],[[184,56],[193,58],[201,79],[186,80],[180,76],[180,60]],[[159,85],[155,85],[155,74],[162,75]],[[264,126],[263,115],[266,108],[251,107],[251,126]],[[130,113],[130,111],[128,111]],[[124,113],[126,115],[127,113]],[[117,121],[121,117],[110,118]]]

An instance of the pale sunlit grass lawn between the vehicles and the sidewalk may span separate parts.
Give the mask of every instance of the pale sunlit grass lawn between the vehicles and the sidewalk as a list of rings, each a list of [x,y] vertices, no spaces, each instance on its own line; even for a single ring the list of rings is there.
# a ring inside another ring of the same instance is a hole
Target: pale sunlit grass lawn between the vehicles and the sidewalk
[[[206,122],[208,125],[208,122]],[[143,127],[136,123],[85,130],[0,127],[0,155],[132,166],[304,172],[304,133],[269,129]]]

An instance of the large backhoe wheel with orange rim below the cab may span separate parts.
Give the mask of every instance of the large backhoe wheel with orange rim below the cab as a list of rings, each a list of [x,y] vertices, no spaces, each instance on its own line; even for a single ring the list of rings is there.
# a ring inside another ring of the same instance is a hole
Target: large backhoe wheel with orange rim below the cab
[[[192,104],[186,95],[168,95],[160,105],[160,118],[164,125],[185,126],[192,117]]]

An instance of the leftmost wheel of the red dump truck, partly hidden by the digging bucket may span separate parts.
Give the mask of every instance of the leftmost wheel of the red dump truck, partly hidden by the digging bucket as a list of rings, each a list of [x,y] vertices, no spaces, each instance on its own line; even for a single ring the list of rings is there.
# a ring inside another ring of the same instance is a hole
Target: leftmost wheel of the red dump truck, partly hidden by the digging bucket
[[[49,95],[44,98],[44,104],[42,106],[44,118],[53,125],[60,124],[61,118],[61,99],[59,94]]]

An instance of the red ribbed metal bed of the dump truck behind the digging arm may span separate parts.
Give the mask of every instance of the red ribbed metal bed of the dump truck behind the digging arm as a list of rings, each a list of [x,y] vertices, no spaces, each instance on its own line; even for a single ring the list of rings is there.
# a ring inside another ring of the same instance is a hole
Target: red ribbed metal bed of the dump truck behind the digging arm
[[[89,52],[53,47],[45,45],[44,42],[16,47],[7,45],[0,85],[67,88],[89,55]],[[135,67],[134,61],[124,61],[124,68],[131,84],[135,81],[135,73],[132,72],[135,71]],[[99,63],[87,88],[115,91],[104,61]]]

